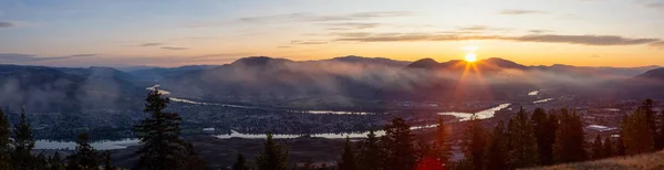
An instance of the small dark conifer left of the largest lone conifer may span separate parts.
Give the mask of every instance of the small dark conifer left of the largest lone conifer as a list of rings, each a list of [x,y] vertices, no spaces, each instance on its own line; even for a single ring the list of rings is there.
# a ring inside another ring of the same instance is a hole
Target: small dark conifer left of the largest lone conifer
[[[76,140],[76,152],[70,156],[70,162],[74,164],[68,164],[68,169],[75,170],[93,170],[98,168],[98,157],[94,148],[90,145],[90,136],[87,134],[79,135]]]

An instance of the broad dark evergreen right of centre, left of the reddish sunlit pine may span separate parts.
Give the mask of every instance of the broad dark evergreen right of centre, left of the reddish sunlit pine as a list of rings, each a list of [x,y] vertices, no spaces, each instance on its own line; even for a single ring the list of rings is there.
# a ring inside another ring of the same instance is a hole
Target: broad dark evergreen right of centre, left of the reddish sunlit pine
[[[413,169],[416,161],[415,148],[413,147],[413,134],[411,126],[402,118],[394,118],[386,125],[385,136],[382,137],[385,155],[385,170]]]

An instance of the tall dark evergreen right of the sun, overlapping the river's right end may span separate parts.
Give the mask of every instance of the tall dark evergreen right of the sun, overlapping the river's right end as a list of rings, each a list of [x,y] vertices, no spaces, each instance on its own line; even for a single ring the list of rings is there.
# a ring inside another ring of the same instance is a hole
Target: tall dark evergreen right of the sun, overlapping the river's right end
[[[537,164],[537,142],[533,127],[523,108],[513,117],[512,128],[507,134],[511,138],[511,150],[508,152],[509,164],[512,168],[525,168]],[[543,124],[543,120],[542,120]]]

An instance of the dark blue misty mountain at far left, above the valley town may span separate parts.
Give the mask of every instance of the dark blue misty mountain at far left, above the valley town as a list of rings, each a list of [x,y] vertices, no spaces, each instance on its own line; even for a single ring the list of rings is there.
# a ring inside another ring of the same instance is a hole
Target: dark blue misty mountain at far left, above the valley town
[[[126,106],[139,91],[114,68],[0,65],[0,104],[33,110]],[[128,76],[131,77],[131,76]]]

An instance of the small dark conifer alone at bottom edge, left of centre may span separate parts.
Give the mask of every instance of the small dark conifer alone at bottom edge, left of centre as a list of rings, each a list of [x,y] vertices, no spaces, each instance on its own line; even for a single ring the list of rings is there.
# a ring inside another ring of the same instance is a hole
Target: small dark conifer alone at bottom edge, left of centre
[[[263,151],[256,158],[258,170],[286,170],[288,167],[288,151],[283,150],[283,145],[277,144],[272,139],[272,134],[268,134]]]

